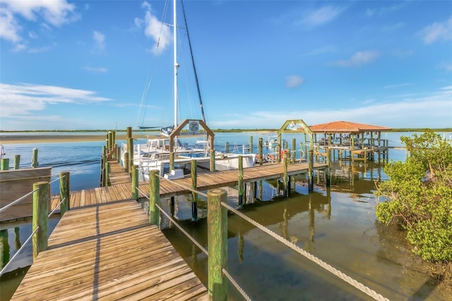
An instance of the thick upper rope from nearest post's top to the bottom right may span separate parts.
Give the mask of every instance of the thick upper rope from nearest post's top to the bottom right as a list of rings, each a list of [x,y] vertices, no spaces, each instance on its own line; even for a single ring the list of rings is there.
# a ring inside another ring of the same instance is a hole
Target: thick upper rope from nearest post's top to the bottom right
[[[271,237],[275,238],[275,240],[278,240],[279,242],[282,242],[285,244],[285,246],[290,247],[290,249],[294,250],[295,252],[301,254],[302,256],[306,257],[307,259],[313,261],[315,264],[318,264],[322,268],[326,269],[326,271],[329,271],[330,273],[333,273],[333,275],[337,276],[338,278],[342,279],[343,281],[349,283],[350,285],[354,286],[358,290],[361,290],[363,293],[366,293],[370,297],[373,297],[375,300],[385,300],[388,299],[386,297],[383,297],[379,293],[376,293],[374,290],[371,290],[371,288],[368,288],[366,285],[359,283],[355,279],[351,278],[350,276],[345,275],[345,273],[339,271],[337,268],[334,268],[333,266],[327,264],[325,261],[322,261],[321,259],[318,259],[316,256],[310,254],[309,252],[304,251],[304,249],[298,247],[296,244],[293,244],[292,242],[289,242],[284,237],[281,237],[280,235],[276,234],[272,230],[264,227],[260,223],[257,223],[255,220],[252,220],[248,216],[245,216],[240,211],[232,208],[227,203],[221,203],[221,206],[227,208],[227,210],[232,211],[233,213],[237,214],[237,216],[243,218],[248,223],[251,223],[251,225],[254,225],[256,228],[262,230],[263,232],[266,232]]]

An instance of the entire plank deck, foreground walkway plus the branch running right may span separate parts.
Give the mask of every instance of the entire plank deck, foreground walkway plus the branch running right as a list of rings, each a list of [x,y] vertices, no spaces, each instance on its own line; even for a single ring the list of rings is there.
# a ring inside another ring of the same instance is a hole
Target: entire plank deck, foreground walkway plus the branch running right
[[[324,170],[326,164],[314,164]],[[244,183],[283,177],[282,164],[246,168]],[[308,172],[307,163],[287,166],[287,175]],[[206,300],[206,287],[140,203],[131,199],[131,179],[112,163],[111,186],[71,191],[71,210],[61,217],[11,300]],[[198,190],[232,187],[238,171],[207,172]],[[147,182],[139,189],[149,195]],[[160,196],[189,194],[191,178],[160,179]],[[52,196],[51,208],[58,197]]]

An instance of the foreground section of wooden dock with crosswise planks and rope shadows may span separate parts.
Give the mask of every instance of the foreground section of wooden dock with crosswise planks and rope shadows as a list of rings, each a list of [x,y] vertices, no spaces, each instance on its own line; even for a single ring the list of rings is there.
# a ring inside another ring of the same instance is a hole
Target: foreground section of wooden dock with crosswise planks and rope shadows
[[[134,200],[67,211],[11,300],[207,300]]]

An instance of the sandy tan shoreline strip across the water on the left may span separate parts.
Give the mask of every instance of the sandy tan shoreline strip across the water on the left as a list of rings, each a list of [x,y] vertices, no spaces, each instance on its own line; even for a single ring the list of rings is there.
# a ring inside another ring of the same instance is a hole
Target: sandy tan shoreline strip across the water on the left
[[[13,143],[52,143],[52,142],[83,142],[83,141],[105,141],[107,135],[68,135],[68,134],[6,134],[0,135],[0,144],[13,144]],[[126,140],[126,135],[117,135],[117,140]]]

